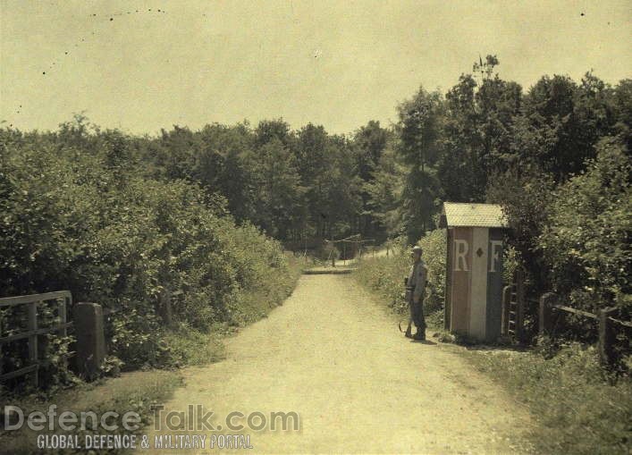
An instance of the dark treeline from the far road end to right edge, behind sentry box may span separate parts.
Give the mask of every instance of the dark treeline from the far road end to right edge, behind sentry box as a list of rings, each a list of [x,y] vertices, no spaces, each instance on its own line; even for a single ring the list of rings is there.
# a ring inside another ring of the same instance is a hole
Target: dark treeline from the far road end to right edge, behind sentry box
[[[127,138],[157,180],[221,194],[286,245],[361,234],[409,243],[442,201],[501,203],[529,291],[629,313],[632,80],[544,76],[524,89],[488,55],[445,94],[420,88],[395,124],[349,135],[282,119]],[[312,242],[313,244],[313,242]],[[626,303],[627,302],[627,303]]]

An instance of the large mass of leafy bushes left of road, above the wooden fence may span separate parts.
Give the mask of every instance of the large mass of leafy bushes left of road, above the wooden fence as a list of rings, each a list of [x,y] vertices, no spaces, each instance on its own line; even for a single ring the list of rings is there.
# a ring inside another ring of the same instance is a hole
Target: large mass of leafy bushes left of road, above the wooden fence
[[[150,177],[117,131],[67,130],[0,130],[2,297],[68,289],[113,310],[109,351],[130,369],[181,363],[169,341],[183,332],[159,316],[167,291],[173,324],[196,333],[260,317],[291,291],[281,245],[237,225],[223,198]]]

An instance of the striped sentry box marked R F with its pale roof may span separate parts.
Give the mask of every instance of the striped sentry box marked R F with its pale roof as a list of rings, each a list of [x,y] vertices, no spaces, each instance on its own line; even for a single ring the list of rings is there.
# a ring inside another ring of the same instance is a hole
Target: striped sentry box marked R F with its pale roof
[[[502,237],[507,218],[494,204],[443,203],[448,229],[445,328],[479,341],[501,335]]]

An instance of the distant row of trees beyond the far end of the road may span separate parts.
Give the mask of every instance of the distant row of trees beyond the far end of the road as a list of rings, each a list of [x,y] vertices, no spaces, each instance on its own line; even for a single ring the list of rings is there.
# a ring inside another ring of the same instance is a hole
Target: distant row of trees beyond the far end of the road
[[[383,235],[367,213],[364,185],[392,131],[369,122],[353,137],[330,135],[309,123],[291,131],[282,119],[200,131],[174,127],[138,143],[139,159],[159,179],[198,182],[228,200],[239,221],[279,240],[338,238],[360,232]]]

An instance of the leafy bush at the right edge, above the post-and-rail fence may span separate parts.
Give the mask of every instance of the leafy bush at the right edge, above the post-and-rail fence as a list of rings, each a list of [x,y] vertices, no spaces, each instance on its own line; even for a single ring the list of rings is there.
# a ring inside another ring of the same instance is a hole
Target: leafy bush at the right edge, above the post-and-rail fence
[[[552,288],[576,308],[619,308],[632,316],[632,162],[618,140],[606,138],[586,173],[555,192],[540,248],[551,265]]]

